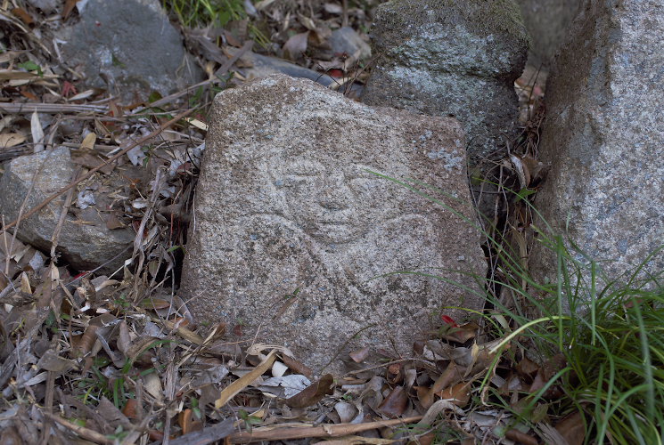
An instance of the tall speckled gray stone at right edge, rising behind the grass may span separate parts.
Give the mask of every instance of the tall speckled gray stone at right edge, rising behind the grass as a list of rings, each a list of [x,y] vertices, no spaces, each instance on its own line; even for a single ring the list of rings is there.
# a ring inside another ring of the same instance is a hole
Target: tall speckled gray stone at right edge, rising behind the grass
[[[663,33],[659,0],[588,1],[549,78],[540,156],[552,168],[536,204],[613,279],[664,243]],[[531,263],[553,279],[546,254]],[[645,271],[664,271],[664,255]]]

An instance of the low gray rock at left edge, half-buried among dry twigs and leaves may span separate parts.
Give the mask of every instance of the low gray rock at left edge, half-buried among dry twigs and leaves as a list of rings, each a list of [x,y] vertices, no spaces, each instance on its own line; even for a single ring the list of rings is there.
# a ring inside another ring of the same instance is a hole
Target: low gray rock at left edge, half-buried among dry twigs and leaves
[[[14,158],[5,164],[0,178],[0,211],[9,223],[18,217],[23,200],[28,197],[25,211],[37,206],[46,197],[67,186],[75,168],[70,162],[70,150],[60,147],[52,151]],[[37,174],[34,189],[30,184]],[[74,195],[76,198],[76,194]],[[53,231],[58,223],[62,198],[53,200],[37,214],[20,223],[18,236],[21,241],[48,252],[51,249]],[[79,271],[103,267],[102,273],[117,270],[131,256],[134,241],[133,231],[119,229],[110,231],[101,219],[102,212],[89,207],[76,218],[68,214],[61,228],[57,251],[73,268]],[[125,252],[126,255],[122,255]],[[116,258],[116,256],[118,257]]]

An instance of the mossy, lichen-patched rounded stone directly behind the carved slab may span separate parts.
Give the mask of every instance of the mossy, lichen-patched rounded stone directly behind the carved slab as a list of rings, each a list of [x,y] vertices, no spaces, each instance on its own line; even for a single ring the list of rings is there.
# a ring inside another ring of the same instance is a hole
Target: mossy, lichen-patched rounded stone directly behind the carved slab
[[[455,116],[471,160],[515,136],[528,35],[512,0],[393,0],[378,7],[372,38],[381,56],[365,103]]]

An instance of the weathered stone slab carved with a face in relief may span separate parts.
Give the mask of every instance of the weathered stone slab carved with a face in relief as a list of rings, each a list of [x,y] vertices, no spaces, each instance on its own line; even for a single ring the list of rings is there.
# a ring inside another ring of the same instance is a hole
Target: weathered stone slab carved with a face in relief
[[[242,326],[321,371],[348,351],[410,356],[439,323],[479,309],[484,277],[455,119],[373,109],[304,79],[217,95],[181,295],[199,320]],[[435,185],[455,211],[367,172]],[[427,271],[467,286],[395,271]]]

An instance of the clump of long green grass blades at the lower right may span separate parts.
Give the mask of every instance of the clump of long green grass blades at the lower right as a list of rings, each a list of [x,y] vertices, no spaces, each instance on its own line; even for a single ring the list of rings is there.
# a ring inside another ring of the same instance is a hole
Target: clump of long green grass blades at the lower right
[[[506,340],[516,341],[524,350],[534,349],[544,360],[562,355],[562,368],[541,391],[529,396],[529,408],[543,402],[561,417],[584,413],[586,443],[661,443],[664,287],[657,277],[637,280],[634,274],[627,282],[594,289],[594,283],[601,281],[594,264],[588,276],[586,264],[571,257],[562,239],[555,246],[556,282],[540,286],[521,267],[504,262],[508,279],[500,284],[519,303],[507,307],[492,298],[498,312],[516,327],[512,333],[502,333]],[[523,282],[528,283],[525,288]],[[533,308],[537,320],[525,315]],[[562,396],[545,401],[545,392],[553,385],[561,388]]]

